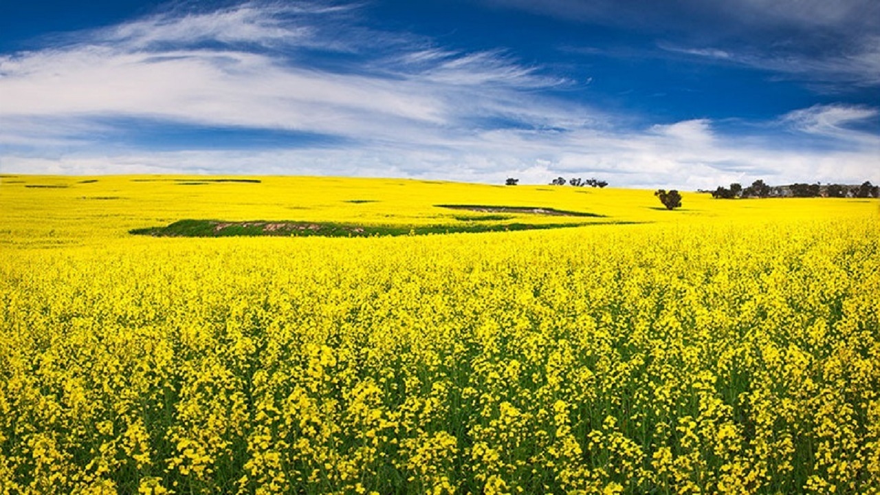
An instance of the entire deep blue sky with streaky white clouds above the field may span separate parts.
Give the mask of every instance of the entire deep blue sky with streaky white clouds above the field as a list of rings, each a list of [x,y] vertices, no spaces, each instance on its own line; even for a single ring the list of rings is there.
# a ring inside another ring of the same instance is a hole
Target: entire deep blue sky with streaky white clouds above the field
[[[878,183],[880,4],[4,2],[0,173]]]

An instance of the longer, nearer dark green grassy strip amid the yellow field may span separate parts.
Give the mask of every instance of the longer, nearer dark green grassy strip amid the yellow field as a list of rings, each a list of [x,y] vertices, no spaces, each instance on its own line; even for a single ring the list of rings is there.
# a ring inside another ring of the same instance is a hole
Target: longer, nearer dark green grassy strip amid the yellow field
[[[432,233],[487,233],[577,227],[591,224],[507,224],[507,225],[349,225],[328,222],[224,222],[222,220],[180,220],[164,227],[133,229],[128,233],[153,237],[373,237],[427,235]]]

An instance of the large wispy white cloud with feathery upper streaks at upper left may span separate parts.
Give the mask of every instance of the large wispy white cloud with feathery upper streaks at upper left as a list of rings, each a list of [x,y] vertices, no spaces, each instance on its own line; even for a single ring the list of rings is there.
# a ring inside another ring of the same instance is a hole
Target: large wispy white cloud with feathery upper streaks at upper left
[[[338,22],[325,16],[340,10],[245,4],[79,33],[80,39],[67,46],[0,58],[0,113],[19,118],[144,115],[367,139],[396,136],[400,129],[395,128],[412,122],[454,125],[457,107],[450,100],[462,93],[510,100],[518,89],[560,84],[499,51],[407,51],[388,43],[396,51],[365,55],[345,71],[300,63],[301,48],[356,49],[339,35],[321,34],[325,24]],[[374,41],[400,37],[372,36]],[[195,48],[206,41],[217,46]],[[283,48],[266,52],[240,43]],[[391,51],[387,45],[385,51]]]

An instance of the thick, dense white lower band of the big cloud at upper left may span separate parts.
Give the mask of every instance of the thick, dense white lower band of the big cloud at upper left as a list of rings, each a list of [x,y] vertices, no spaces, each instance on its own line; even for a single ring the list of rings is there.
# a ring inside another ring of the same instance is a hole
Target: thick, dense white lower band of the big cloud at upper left
[[[389,119],[441,122],[415,85],[282,67],[208,50],[119,53],[88,47],[0,61],[0,115],[143,115],[180,122],[357,135]]]

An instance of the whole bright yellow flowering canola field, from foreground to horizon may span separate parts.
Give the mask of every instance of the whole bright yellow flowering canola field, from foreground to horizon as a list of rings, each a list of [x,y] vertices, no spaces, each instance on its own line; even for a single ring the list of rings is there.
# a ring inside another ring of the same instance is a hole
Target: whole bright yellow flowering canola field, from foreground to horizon
[[[0,493],[880,493],[880,202],[683,196],[0,177]]]

